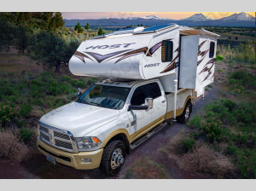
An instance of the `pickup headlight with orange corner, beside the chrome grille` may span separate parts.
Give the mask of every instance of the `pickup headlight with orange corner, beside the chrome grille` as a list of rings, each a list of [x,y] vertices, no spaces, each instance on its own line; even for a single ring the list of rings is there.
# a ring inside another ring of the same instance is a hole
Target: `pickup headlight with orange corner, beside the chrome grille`
[[[102,142],[98,138],[91,136],[77,138],[77,142],[81,149],[99,148],[102,145]]]

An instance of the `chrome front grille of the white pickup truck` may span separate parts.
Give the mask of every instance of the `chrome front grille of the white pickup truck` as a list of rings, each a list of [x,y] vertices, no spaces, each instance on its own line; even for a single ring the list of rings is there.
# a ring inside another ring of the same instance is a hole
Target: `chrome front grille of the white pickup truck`
[[[39,122],[40,139],[47,144],[72,153],[78,153],[73,135],[66,130],[59,130]]]

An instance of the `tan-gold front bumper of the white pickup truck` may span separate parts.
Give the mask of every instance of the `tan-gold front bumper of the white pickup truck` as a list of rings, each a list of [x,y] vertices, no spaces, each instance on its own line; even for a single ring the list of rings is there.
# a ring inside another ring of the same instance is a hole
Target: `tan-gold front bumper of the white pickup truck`
[[[38,150],[44,155],[48,154],[55,158],[55,161],[62,165],[68,165],[78,170],[92,170],[100,166],[102,160],[103,148],[80,153],[68,153],[57,148],[50,147],[38,138]],[[82,163],[81,159],[91,159],[90,163]]]

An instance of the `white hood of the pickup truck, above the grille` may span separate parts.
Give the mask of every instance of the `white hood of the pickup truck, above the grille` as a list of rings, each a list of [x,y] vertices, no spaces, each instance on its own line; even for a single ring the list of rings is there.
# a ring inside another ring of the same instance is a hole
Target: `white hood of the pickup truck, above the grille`
[[[119,110],[72,102],[45,114],[40,122],[82,137],[118,117]]]

